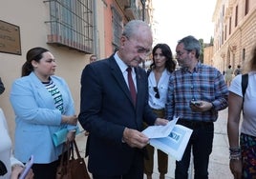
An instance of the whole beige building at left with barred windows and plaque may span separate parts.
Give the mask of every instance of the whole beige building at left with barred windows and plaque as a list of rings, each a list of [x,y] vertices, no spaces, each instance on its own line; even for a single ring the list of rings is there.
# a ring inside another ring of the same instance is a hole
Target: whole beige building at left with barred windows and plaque
[[[132,19],[150,24],[151,0],[2,0],[0,6],[0,76],[6,87],[0,95],[14,134],[14,113],[9,100],[12,82],[21,76],[26,53],[34,47],[50,50],[55,74],[63,77],[79,113],[80,76],[91,54],[111,55],[119,43],[123,25]]]

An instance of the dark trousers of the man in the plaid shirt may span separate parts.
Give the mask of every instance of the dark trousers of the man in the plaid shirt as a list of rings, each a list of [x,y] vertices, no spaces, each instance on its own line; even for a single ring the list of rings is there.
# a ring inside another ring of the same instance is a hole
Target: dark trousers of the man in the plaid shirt
[[[179,119],[180,120],[180,119]],[[209,156],[214,137],[213,122],[178,120],[178,124],[193,129],[181,161],[176,161],[175,178],[187,179],[191,150],[194,156],[194,178],[208,179]]]

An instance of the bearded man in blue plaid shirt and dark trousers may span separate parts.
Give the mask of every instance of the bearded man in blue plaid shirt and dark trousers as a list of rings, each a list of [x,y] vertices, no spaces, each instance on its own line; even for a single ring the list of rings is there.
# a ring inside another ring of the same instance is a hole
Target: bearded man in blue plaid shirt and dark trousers
[[[222,73],[199,62],[201,44],[193,36],[182,38],[176,47],[180,70],[174,71],[167,93],[167,119],[180,116],[178,124],[193,129],[175,178],[187,179],[190,154],[194,157],[194,178],[208,178],[214,125],[218,111],[227,107],[228,90]]]

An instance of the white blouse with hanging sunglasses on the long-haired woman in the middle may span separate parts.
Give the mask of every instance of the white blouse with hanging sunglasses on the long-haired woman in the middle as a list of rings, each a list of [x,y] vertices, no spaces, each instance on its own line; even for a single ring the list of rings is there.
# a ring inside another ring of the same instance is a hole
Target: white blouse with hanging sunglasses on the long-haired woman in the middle
[[[158,84],[158,89],[160,92],[160,99],[158,99],[155,97],[156,92],[154,91],[154,87],[157,87],[157,82],[154,71],[151,70],[148,76],[148,104],[152,109],[165,109],[170,75],[171,73],[168,70],[165,69],[162,71]]]

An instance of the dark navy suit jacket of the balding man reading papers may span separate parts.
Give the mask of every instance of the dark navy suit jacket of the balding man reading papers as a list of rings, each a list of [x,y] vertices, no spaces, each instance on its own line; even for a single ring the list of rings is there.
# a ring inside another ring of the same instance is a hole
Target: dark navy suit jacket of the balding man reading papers
[[[142,130],[142,121],[153,125],[157,116],[148,106],[145,70],[136,68],[137,105],[133,105],[122,72],[112,55],[85,67],[81,77],[81,104],[78,120],[90,132],[87,144],[88,168],[99,175],[128,171],[135,151],[122,143],[125,127]]]

